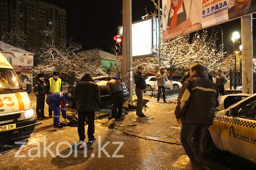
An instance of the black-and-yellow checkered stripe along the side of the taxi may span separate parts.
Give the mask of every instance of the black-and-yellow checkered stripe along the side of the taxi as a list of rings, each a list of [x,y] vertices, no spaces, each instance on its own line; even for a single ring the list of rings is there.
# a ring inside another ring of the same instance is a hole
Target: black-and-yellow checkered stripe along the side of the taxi
[[[215,116],[214,120],[215,121],[232,123],[232,124],[240,125],[240,126],[246,126],[246,127],[249,127],[249,128],[255,128],[256,127],[256,122],[243,121],[243,120],[233,119],[233,118],[228,118],[228,117]]]

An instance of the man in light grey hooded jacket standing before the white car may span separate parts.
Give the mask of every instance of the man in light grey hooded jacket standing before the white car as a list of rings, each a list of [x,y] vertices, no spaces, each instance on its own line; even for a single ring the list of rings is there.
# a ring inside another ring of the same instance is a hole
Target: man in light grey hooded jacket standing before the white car
[[[156,74],[157,86],[158,86],[158,94],[157,94],[157,103],[160,100],[161,90],[163,90],[163,99],[164,103],[166,103],[165,99],[165,87],[167,81],[167,75],[164,72],[164,67],[160,67],[160,71]]]

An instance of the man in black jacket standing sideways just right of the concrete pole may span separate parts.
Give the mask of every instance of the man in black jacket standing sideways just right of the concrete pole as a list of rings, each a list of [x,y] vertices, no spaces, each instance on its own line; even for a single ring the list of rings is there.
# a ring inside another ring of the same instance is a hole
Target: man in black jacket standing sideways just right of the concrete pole
[[[146,88],[146,82],[144,79],[144,74],[142,74],[144,70],[144,66],[139,66],[137,72],[134,74],[134,80],[135,80],[135,93],[138,98],[137,101],[137,109],[136,109],[136,115],[139,117],[146,117],[142,113],[142,107],[143,107],[143,93]]]

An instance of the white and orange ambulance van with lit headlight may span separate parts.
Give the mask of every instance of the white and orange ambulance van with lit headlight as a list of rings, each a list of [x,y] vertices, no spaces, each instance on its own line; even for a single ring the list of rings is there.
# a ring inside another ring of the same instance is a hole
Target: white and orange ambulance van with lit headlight
[[[31,84],[24,90],[11,64],[0,52],[0,142],[26,139],[34,131],[34,110],[28,97]]]

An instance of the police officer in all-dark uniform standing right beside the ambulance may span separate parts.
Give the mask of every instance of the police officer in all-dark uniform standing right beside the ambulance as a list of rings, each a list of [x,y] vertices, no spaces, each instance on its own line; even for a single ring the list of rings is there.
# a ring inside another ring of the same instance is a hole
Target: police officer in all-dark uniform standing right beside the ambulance
[[[38,120],[43,120],[46,118],[46,116],[44,116],[44,100],[47,87],[44,81],[44,74],[40,73],[37,77],[39,80],[34,86],[34,93],[36,95],[36,116]]]

